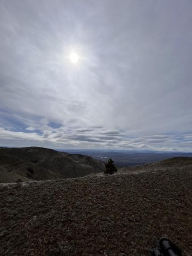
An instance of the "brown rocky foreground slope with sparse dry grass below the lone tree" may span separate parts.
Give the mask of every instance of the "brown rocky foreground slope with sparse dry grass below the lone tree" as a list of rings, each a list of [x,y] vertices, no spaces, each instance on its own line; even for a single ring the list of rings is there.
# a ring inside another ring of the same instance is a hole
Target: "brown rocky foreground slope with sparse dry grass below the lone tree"
[[[0,256],[192,255],[192,168],[0,186]]]

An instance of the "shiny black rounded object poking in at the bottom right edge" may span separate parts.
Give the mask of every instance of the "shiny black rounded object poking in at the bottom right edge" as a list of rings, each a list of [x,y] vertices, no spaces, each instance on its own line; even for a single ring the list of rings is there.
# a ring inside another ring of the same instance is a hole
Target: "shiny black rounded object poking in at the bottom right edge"
[[[154,248],[152,256],[183,256],[181,250],[171,240],[162,237],[159,240],[159,247]]]

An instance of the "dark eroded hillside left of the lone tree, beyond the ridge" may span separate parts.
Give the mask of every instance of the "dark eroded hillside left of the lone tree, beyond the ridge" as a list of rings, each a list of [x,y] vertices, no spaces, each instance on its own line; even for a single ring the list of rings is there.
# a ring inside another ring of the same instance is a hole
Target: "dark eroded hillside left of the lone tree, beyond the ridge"
[[[55,180],[103,172],[104,164],[86,155],[43,147],[0,148],[0,182]]]

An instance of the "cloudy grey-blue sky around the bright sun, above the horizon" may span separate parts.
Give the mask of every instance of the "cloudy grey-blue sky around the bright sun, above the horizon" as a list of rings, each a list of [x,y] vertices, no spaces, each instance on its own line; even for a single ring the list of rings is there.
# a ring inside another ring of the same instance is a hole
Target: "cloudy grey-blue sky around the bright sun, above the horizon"
[[[0,146],[192,151],[192,1],[0,0]]]

